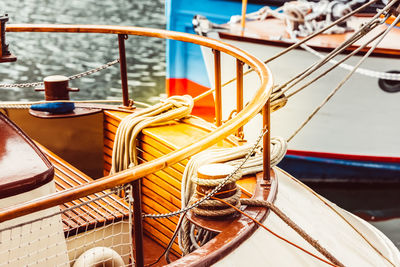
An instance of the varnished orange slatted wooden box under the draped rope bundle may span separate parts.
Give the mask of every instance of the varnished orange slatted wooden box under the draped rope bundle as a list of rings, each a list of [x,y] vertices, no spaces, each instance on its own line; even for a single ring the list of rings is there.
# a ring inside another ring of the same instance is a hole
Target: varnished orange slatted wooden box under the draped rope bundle
[[[104,123],[104,173],[111,168],[112,148],[119,122],[127,114],[105,111]],[[201,119],[189,118],[182,122],[171,122],[167,125],[150,127],[143,130],[138,137],[139,163],[151,161],[176,149],[200,140],[210,131],[210,124]],[[214,147],[230,147],[232,140],[224,140]],[[142,202],[145,213],[168,213],[181,206],[181,179],[188,160],[185,159],[172,166],[157,171],[142,180]],[[153,240],[166,246],[172,238],[178,217],[167,219],[145,219],[144,231]],[[175,240],[172,251],[179,255],[180,249]]]

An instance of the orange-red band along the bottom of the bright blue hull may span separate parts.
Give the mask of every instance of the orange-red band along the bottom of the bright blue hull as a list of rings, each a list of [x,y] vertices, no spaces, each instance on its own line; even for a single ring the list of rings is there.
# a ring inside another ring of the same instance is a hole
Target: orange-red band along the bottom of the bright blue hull
[[[166,84],[168,96],[190,95],[192,97],[196,97],[210,89],[186,78],[169,78],[167,79]],[[213,96],[209,95],[197,101],[194,105],[192,113],[207,121],[213,122],[215,116]]]

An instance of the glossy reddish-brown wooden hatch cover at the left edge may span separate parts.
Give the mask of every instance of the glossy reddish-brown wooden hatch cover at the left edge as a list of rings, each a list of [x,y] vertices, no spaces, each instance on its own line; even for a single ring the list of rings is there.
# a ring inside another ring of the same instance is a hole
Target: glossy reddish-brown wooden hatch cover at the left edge
[[[0,199],[38,188],[54,169],[33,141],[0,113]]]

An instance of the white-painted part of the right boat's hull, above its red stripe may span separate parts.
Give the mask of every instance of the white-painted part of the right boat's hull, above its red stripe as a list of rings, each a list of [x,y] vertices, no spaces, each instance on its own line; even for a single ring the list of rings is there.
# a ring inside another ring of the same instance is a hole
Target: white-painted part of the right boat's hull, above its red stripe
[[[242,48],[261,60],[268,59],[282,50],[281,47],[261,45],[241,41],[225,40]],[[211,51],[203,48],[210,83],[213,84],[214,63]],[[350,64],[358,62],[360,56],[353,57]],[[315,63],[318,57],[304,51],[294,51],[269,64],[276,85],[288,81],[306,67]],[[348,62],[346,62],[348,63]],[[235,77],[235,63],[228,55],[222,57],[222,83]],[[400,60],[370,57],[363,68],[375,71],[400,70]],[[339,84],[348,71],[336,69],[321,80],[290,98],[287,105],[271,114],[272,135],[288,138]],[[257,89],[254,74],[247,75],[245,82],[245,102]],[[226,118],[235,107],[235,83],[223,89],[223,113]],[[227,98],[232,100],[225,101]],[[324,106],[320,112],[290,142],[289,149],[400,157],[400,124],[396,123],[400,114],[400,93],[387,93],[378,86],[378,79],[355,74]],[[255,124],[260,125],[260,124]],[[247,138],[252,139],[254,127],[247,130]],[[246,133],[246,132],[245,132]]]

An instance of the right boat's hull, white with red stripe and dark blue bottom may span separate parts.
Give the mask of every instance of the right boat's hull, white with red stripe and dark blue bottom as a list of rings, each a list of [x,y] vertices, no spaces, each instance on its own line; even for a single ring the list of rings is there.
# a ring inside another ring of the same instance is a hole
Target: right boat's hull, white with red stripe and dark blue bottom
[[[238,46],[264,60],[278,52],[282,47],[249,42],[221,39]],[[213,56],[203,49],[210,84],[213,84]],[[361,56],[353,57],[349,63],[356,64]],[[276,84],[282,84],[318,57],[302,49],[282,56],[271,62],[269,67]],[[222,82],[234,77],[235,64],[229,56],[222,57]],[[347,63],[347,62],[346,62]],[[375,71],[400,69],[400,60],[388,57],[370,57],[362,66]],[[272,136],[289,138],[307,119],[308,115],[338,85],[348,71],[334,70],[315,84],[301,91],[289,100],[287,106],[271,115]],[[255,77],[245,78],[245,102],[252,97],[252,88],[257,88]],[[223,90],[223,98],[234,98],[231,94],[235,84]],[[321,111],[290,142],[290,150],[301,151],[289,155],[281,166],[290,170],[300,179],[318,181],[352,182],[399,182],[400,181],[400,126],[393,123],[390,114],[400,114],[400,93],[383,91],[378,79],[356,73]],[[232,102],[231,102],[232,101]],[[235,107],[235,99],[224,102],[224,115],[228,116]],[[285,122],[285,123],[282,123]],[[255,123],[247,130],[247,138],[252,139]],[[390,125],[390,126],[388,126]],[[246,134],[246,131],[245,131]],[[309,153],[325,153],[324,157],[305,156]],[[302,155],[303,154],[303,155]],[[340,154],[341,159],[329,157]],[[327,156],[328,155],[328,156]],[[362,159],[354,160],[361,155]],[[300,167],[300,168],[299,168]]]

